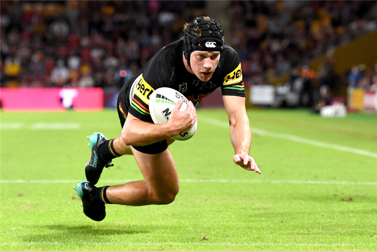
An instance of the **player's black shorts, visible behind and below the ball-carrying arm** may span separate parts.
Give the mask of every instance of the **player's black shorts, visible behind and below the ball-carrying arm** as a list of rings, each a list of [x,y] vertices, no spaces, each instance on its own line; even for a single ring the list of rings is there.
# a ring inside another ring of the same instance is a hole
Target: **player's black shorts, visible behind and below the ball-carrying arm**
[[[121,122],[122,128],[128,116],[128,107],[130,106],[129,99],[130,99],[131,86],[136,78],[137,76],[128,80],[127,83],[123,85],[118,95],[117,110],[118,110],[118,116],[119,116],[119,120]],[[137,151],[145,153],[145,154],[159,154],[166,150],[167,142],[166,140],[163,140],[163,141],[156,142],[156,143],[142,146],[142,147],[138,147],[138,146],[132,146],[132,147],[135,148]]]

